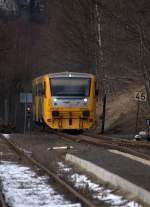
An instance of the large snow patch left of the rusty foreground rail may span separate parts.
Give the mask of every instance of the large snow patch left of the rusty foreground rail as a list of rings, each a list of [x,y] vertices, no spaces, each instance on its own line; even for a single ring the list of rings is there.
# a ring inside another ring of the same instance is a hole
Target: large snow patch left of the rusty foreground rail
[[[71,204],[48,185],[47,176],[38,176],[29,167],[2,161],[0,180],[6,201],[11,207],[81,207]]]

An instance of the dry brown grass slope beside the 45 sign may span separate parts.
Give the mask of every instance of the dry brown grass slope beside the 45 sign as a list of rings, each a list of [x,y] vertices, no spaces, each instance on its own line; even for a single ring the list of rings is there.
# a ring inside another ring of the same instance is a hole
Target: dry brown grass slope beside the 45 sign
[[[105,129],[111,133],[134,134],[137,101],[135,101],[135,92],[144,90],[141,82],[125,83],[125,87],[118,88],[114,94],[107,96],[106,107],[106,125]],[[97,116],[102,113],[102,106],[97,109]],[[147,103],[140,104],[138,130],[143,130],[145,118],[149,117]]]

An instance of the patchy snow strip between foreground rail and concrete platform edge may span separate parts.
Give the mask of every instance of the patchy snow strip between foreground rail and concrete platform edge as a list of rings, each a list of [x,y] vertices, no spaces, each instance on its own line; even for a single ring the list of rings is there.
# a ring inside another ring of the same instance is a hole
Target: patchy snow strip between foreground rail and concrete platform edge
[[[72,168],[68,167],[66,164],[62,162],[58,162],[59,171],[68,173],[72,171]],[[59,173],[59,172],[58,172]],[[92,192],[93,197],[98,200],[104,201],[108,203],[110,206],[120,206],[120,207],[142,207],[142,205],[138,204],[136,201],[128,201],[123,196],[117,195],[112,192],[110,189],[106,189],[99,184],[93,183],[86,175],[83,174],[71,174],[70,180],[74,183],[76,188],[88,188],[90,192]]]

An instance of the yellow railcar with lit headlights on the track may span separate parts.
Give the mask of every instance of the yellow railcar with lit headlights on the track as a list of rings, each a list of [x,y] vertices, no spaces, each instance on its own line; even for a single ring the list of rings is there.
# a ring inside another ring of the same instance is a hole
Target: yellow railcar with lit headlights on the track
[[[95,76],[51,73],[33,80],[33,119],[52,129],[88,129],[95,123]]]

